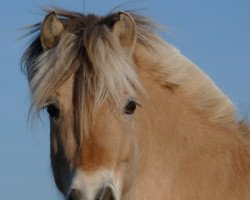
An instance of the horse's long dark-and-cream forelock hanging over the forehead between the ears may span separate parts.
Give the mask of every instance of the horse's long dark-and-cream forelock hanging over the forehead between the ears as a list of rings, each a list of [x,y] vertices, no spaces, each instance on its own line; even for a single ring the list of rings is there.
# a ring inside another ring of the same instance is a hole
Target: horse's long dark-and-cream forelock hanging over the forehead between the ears
[[[37,23],[30,29],[30,35],[35,34],[35,39],[21,60],[30,83],[32,108],[39,111],[46,105],[49,95],[73,76],[75,129],[88,128],[94,111],[108,96],[117,105],[122,101],[122,94],[141,89],[130,58],[110,32],[119,13],[96,16],[62,9],[53,12],[65,28],[58,45],[43,51],[40,41],[42,23]],[[135,13],[131,15],[138,28],[138,42],[149,48],[154,39],[157,41],[153,33],[155,25]],[[84,125],[79,126],[79,123]]]

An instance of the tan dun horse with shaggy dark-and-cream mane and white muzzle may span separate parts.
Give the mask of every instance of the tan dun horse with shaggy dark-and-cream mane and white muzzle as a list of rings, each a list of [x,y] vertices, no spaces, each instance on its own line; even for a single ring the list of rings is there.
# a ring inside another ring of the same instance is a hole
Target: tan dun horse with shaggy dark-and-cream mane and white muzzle
[[[249,200],[249,125],[194,63],[131,11],[48,9],[22,57],[48,112],[68,200]]]

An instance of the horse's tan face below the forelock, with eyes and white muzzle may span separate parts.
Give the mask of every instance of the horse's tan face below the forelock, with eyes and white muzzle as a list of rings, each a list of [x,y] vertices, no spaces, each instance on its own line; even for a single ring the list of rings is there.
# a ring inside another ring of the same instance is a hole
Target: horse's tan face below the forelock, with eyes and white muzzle
[[[119,199],[125,175],[135,160],[132,121],[136,103],[124,98],[124,105],[117,111],[104,102],[89,132],[80,136],[74,129],[74,106],[69,103],[72,87],[73,80],[69,79],[47,106],[56,185],[69,199]]]

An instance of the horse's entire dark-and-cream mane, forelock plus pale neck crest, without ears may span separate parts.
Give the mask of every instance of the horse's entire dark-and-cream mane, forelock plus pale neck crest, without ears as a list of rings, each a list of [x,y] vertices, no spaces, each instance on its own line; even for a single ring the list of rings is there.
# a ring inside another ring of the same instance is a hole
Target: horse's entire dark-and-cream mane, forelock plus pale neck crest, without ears
[[[88,127],[93,111],[107,97],[117,105],[124,94],[133,96],[143,88],[133,60],[110,32],[118,12],[107,16],[84,15],[62,9],[53,9],[53,12],[66,30],[58,45],[43,51],[41,23],[37,23],[30,30],[30,34],[36,37],[21,61],[30,82],[32,107],[39,111],[56,88],[73,76],[74,115],[78,123],[84,122],[84,127]],[[155,34],[155,23],[136,13],[129,13],[137,28],[137,46],[146,49],[155,59],[154,68],[150,69],[152,76],[163,86],[187,94],[195,108],[210,120],[222,124],[234,121],[232,103],[214,83],[177,49]]]

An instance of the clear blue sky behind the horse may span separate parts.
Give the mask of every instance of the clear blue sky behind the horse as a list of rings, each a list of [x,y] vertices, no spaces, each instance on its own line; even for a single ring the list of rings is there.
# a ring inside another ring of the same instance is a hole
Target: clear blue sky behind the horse
[[[43,19],[39,6],[105,14],[117,5],[167,27],[162,37],[202,68],[239,109],[250,113],[249,0],[1,0],[0,199],[60,199],[49,161],[48,121],[27,123],[29,92],[19,61],[27,44],[18,28]]]

